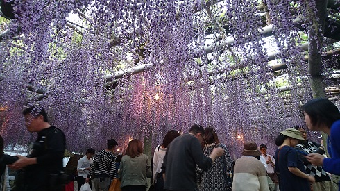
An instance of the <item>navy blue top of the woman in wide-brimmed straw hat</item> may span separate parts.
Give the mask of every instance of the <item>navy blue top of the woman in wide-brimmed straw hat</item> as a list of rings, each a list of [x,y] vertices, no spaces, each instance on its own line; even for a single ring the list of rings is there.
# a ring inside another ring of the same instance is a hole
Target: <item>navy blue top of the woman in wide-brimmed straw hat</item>
[[[296,149],[284,146],[275,151],[275,172],[279,174],[280,191],[310,191],[310,185],[306,178],[301,178],[291,173],[288,167],[297,167],[305,172],[303,161],[298,157]]]

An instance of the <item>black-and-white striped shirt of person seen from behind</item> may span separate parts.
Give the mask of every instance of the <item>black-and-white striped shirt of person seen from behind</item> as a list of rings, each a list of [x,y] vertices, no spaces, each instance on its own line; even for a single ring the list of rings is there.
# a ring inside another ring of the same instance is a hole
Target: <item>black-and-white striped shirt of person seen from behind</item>
[[[105,149],[96,153],[93,164],[87,177],[110,177],[110,181],[116,178],[116,156]]]

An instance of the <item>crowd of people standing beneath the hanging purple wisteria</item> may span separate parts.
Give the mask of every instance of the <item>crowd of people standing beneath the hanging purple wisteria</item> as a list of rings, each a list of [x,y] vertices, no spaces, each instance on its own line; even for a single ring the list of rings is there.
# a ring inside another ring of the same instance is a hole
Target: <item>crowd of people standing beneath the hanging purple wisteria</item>
[[[108,140],[101,151],[87,149],[78,160],[78,188],[89,183],[96,191],[113,190],[112,183],[119,178],[119,190],[145,191],[151,178],[155,191],[334,190],[330,176],[340,175],[339,109],[328,99],[312,99],[300,112],[309,130],[328,135],[326,148],[322,141],[309,140],[303,126],[294,126],[278,133],[273,156],[267,153],[266,144],[257,147],[249,141],[244,143],[243,156],[234,162],[226,144],[219,142],[215,128],[195,124],[188,133],[168,131],[155,147],[151,161],[137,139],[131,140],[124,155],[118,158],[113,154],[118,145],[114,139]],[[18,171],[12,190],[62,190],[67,182],[60,173],[64,133],[49,124],[41,106],[27,108],[23,115],[27,130],[37,133],[37,140],[31,143],[28,156],[7,156],[3,154],[0,136],[1,190],[10,190],[6,181],[8,167]]]

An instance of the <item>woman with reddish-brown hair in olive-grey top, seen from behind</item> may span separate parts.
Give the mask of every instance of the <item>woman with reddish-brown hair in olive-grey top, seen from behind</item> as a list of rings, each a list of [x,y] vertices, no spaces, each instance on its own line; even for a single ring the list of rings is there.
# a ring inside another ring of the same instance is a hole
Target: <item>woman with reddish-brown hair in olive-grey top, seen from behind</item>
[[[151,178],[152,172],[140,140],[134,139],[128,143],[125,155],[121,158],[119,174],[122,191],[146,190],[146,178]]]

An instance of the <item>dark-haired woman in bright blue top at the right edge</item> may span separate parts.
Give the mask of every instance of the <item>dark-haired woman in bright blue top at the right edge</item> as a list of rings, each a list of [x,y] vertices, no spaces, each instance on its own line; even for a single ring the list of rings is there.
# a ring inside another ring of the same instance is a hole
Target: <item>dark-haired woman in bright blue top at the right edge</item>
[[[327,150],[331,158],[311,153],[306,156],[309,163],[323,166],[326,172],[340,175],[340,112],[337,106],[326,98],[312,99],[300,109],[305,115],[309,130],[322,131],[328,134]]]

